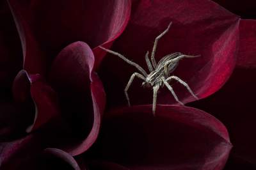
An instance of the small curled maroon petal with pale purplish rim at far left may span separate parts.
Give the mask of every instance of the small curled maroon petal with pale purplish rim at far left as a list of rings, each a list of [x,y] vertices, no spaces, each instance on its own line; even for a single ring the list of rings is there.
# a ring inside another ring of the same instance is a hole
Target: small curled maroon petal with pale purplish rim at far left
[[[33,123],[26,129],[27,132],[41,127],[58,115],[56,93],[39,74],[28,75],[28,72],[21,70],[13,82],[13,96],[16,102],[24,106],[27,114],[33,115]]]

